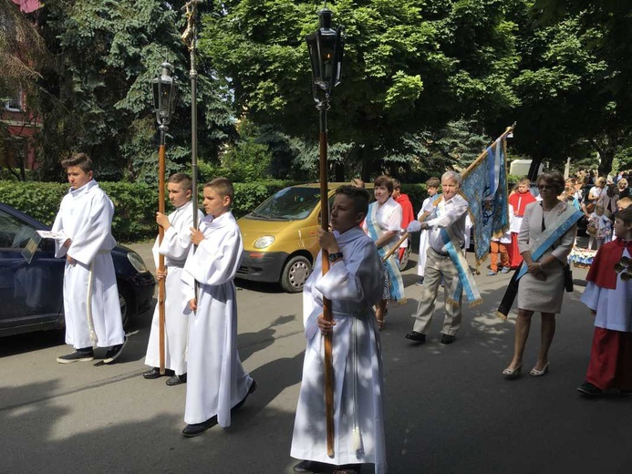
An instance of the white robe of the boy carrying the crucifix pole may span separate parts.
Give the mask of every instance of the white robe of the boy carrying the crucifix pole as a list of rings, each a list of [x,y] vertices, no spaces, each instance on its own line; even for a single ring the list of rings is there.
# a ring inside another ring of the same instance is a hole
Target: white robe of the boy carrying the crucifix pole
[[[253,379],[244,372],[237,352],[237,291],[234,275],[242,258],[239,226],[228,211],[200,223],[204,240],[191,249],[182,271],[184,312],[189,317],[187,397],[184,421],[202,423],[217,416],[231,426],[231,408],[248,393]],[[195,250],[195,252],[193,252]],[[197,311],[189,301],[194,280],[200,283]]]

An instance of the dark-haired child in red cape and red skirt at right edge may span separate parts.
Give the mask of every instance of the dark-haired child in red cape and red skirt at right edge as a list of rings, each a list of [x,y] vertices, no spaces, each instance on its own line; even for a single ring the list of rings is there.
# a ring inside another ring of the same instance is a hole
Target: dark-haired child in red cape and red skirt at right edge
[[[595,334],[585,381],[587,397],[608,390],[632,393],[632,208],[616,212],[616,240],[597,252],[582,303],[595,316]]]

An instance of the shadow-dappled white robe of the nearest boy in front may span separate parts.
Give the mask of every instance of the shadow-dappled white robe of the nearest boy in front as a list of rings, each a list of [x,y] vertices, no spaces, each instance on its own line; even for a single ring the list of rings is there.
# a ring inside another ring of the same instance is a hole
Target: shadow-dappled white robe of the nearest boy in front
[[[322,275],[319,253],[303,290],[307,346],[290,455],[335,465],[373,463],[381,474],[387,470],[382,362],[372,305],[382,294],[382,266],[375,243],[359,227],[335,235],[343,260]],[[332,337],[334,458],[326,450],[323,336],[316,321],[323,295],[332,302],[337,323]]]

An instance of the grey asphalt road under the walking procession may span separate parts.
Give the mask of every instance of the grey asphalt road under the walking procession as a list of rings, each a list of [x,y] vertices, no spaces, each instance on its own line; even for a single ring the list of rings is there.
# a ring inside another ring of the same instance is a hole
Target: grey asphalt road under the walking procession
[[[150,245],[134,246],[148,259]],[[413,257],[413,260],[416,256]],[[471,259],[471,257],[469,257]],[[404,339],[420,288],[404,276],[409,301],[391,306],[382,332],[391,473],[628,473],[630,398],[586,400],[581,384],[592,318],[565,295],[543,377],[502,378],[513,321],[495,317],[509,275],[477,276],[484,303],[465,308],[453,345],[440,345],[437,312],[429,342]],[[575,270],[575,281],[585,277]],[[301,295],[244,283],[238,293],[239,350],[259,389],[233,426],[183,438],[186,386],[145,380],[150,314],[135,322],[119,362],[61,366],[63,335],[0,339],[2,473],[286,473],[305,349]],[[534,320],[525,367],[534,364]],[[101,350],[101,352],[104,352]]]

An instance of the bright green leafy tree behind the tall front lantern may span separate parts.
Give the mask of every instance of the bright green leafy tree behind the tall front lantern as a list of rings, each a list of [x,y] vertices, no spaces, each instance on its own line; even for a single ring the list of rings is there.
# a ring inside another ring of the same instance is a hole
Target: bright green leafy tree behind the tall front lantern
[[[497,118],[517,104],[513,30],[497,0],[338,0],[328,5],[347,35],[343,84],[334,92],[329,138],[347,144],[362,176],[402,153],[409,134],[461,117]],[[305,36],[316,5],[291,0],[226,1],[203,19],[200,49],[230,77],[237,108],[259,125],[316,139]]]

